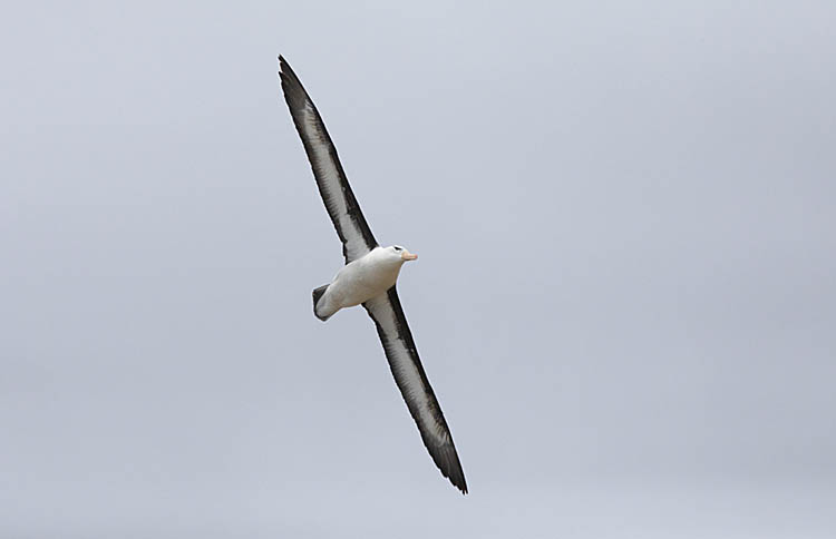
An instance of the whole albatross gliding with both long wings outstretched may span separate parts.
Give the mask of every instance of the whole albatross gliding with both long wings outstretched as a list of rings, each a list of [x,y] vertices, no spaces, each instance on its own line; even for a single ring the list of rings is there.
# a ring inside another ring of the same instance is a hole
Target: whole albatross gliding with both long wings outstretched
[[[453,443],[453,434],[424,372],[418,350],[400,306],[396,283],[400,268],[418,255],[405,247],[381,247],[346,177],[337,148],[322,117],[283,57],[279,76],[293,124],[297,126],[317,187],[342,242],[346,265],[333,281],[313,290],[313,314],[327,321],[341,308],[362,305],[375,322],[386,359],[427,451],[441,474],[467,493],[465,472]]]

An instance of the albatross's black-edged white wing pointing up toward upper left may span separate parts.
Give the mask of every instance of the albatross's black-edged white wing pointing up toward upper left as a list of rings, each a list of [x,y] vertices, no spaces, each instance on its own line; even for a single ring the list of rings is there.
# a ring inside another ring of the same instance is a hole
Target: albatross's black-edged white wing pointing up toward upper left
[[[337,234],[342,242],[342,254],[346,263],[356,261],[378,246],[369,225],[366,223],[360,205],[351,192],[346,173],[337,156],[337,148],[325,130],[325,124],[304,91],[302,82],[290,68],[288,61],[279,57],[284,100],[288,101],[293,124],[302,138],[308,160],[311,161],[313,176],[317,178],[319,193],[325,203]]]

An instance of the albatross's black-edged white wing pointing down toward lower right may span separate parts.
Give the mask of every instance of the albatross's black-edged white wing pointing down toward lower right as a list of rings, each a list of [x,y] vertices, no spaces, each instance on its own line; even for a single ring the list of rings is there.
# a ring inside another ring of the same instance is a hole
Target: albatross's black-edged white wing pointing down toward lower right
[[[407,401],[409,413],[418,424],[424,444],[444,477],[449,478],[453,484],[467,493],[465,472],[453,444],[450,429],[444,420],[441,406],[438,405],[418,359],[418,350],[404,316],[398,291],[392,286],[386,294],[363,303],[363,306],[375,321],[395,382]]]

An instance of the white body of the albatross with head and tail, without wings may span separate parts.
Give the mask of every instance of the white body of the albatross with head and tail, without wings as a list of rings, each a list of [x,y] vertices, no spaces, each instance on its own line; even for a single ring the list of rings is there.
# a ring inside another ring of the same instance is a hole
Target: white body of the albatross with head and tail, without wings
[[[324,294],[317,301],[314,314],[327,320],[341,308],[353,307],[385,294],[395,286],[404,263],[415,257],[416,255],[400,247],[375,247],[337,272]]]

